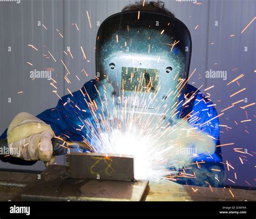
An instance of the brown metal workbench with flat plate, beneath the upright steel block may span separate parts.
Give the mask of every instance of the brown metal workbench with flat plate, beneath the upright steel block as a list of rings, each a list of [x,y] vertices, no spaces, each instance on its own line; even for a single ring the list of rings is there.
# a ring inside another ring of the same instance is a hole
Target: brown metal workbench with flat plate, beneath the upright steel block
[[[49,171],[53,170],[53,171]],[[206,188],[195,186],[182,186],[172,181],[164,180],[162,182],[150,182],[147,193],[143,195],[147,183],[134,183],[131,187],[119,181],[112,181],[114,188],[117,188],[116,199],[112,199],[113,195],[109,191],[109,181],[104,183],[90,180],[73,180],[65,181],[65,166],[53,165],[46,169],[41,174],[41,180],[38,180],[38,174],[35,173],[17,173],[17,172],[0,172],[0,201],[22,201],[30,200],[35,193],[42,195],[42,200],[79,200],[85,201],[83,195],[91,199],[86,200],[145,200],[145,201],[256,201],[255,190],[231,189],[230,188]],[[45,180],[48,193],[36,191],[39,188],[45,187]],[[87,188],[102,188],[107,189],[86,190]],[[116,184],[115,184],[116,183]],[[131,182],[130,182],[131,183]],[[117,186],[118,185],[118,186]],[[95,187],[96,186],[96,187]],[[113,188],[113,187],[112,187]],[[144,188],[144,189],[143,189]],[[90,193],[89,193],[90,192]],[[96,194],[97,193],[97,194]],[[73,194],[73,197],[68,197]],[[89,195],[90,194],[90,195]],[[95,194],[95,195],[93,195]],[[110,195],[110,196],[109,196]],[[143,197],[144,196],[144,197]],[[41,199],[41,198],[39,198]],[[35,200],[35,199],[33,199]]]

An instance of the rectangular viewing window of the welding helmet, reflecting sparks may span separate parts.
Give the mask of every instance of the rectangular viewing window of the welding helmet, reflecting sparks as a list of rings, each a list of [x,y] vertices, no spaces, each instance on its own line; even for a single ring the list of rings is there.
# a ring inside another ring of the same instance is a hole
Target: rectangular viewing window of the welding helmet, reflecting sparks
[[[156,92],[159,70],[122,67],[122,91]]]

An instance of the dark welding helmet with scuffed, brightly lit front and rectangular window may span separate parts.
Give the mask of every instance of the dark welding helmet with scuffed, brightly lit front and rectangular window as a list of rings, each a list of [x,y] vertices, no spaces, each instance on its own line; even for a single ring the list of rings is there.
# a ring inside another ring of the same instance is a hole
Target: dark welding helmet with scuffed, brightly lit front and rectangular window
[[[116,13],[98,30],[98,84],[109,81],[114,99],[127,111],[179,117],[191,47],[190,32],[177,18],[150,11]]]

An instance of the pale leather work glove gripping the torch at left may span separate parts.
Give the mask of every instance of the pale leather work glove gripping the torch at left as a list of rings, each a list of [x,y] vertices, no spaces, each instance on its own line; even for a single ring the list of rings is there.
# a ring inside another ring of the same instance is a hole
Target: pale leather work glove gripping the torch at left
[[[7,131],[10,155],[23,160],[41,160],[47,167],[54,161],[51,127],[29,113],[19,113]]]

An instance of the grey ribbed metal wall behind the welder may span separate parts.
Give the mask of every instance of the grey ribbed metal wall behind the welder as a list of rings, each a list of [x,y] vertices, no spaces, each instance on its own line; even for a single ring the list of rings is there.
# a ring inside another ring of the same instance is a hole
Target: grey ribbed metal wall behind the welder
[[[254,0],[201,0],[177,2],[163,0],[171,10],[190,29],[193,42],[190,72],[197,69],[189,81],[204,91],[207,87],[210,99],[217,104],[218,113],[240,99],[220,117],[221,144],[224,162],[228,161],[234,169],[226,168],[225,184],[228,186],[255,187],[255,106],[243,110],[255,102],[255,22],[241,33],[256,16]],[[8,127],[11,119],[19,112],[38,114],[57,104],[58,96],[78,90],[87,80],[95,77],[95,40],[99,26],[105,18],[119,12],[126,4],[134,1],[118,0],[21,0],[0,2],[0,132]],[[194,1],[196,2],[196,1]],[[90,17],[87,18],[87,12]],[[38,25],[40,23],[41,25]],[[218,25],[217,23],[218,22]],[[45,28],[44,28],[45,26]],[[57,29],[57,30],[56,30]],[[63,35],[60,36],[60,35]],[[232,36],[234,35],[234,36]],[[36,47],[35,50],[31,46]],[[86,60],[80,50],[83,47]],[[10,50],[11,47],[11,51]],[[68,51],[70,47],[70,52]],[[247,47],[247,50],[245,49]],[[52,59],[49,52],[56,59]],[[66,54],[63,52],[65,51]],[[66,71],[61,60],[68,65],[71,75],[68,83]],[[26,62],[32,64],[32,66]],[[53,70],[52,78],[31,80],[31,70]],[[83,71],[85,70],[85,72]],[[205,77],[208,70],[227,71],[227,80]],[[227,83],[245,76],[239,83]],[[230,97],[241,88],[244,92]],[[18,93],[23,91],[23,93]],[[205,92],[205,93],[207,93]],[[208,95],[208,94],[207,94]],[[11,102],[8,102],[11,98]],[[246,99],[245,99],[246,98]],[[248,101],[246,103],[246,101]],[[240,121],[252,119],[250,122]],[[238,125],[235,124],[238,123]],[[234,152],[233,148],[249,154]],[[241,164],[240,158],[244,164]],[[63,164],[64,157],[56,163]],[[37,162],[31,167],[10,165],[0,162],[0,168],[42,170],[44,165]],[[235,175],[237,179],[235,179]],[[234,181],[233,184],[230,180]]]

